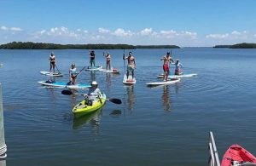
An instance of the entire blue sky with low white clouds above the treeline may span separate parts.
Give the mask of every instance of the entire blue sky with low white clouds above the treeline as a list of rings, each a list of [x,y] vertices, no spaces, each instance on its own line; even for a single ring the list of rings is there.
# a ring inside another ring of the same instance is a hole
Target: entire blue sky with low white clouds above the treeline
[[[255,0],[0,0],[0,44],[256,43]]]

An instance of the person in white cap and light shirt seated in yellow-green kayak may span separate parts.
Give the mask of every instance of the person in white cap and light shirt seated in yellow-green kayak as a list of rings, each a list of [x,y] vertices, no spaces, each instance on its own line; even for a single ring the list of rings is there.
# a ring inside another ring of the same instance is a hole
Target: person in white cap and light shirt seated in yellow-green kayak
[[[84,100],[87,105],[91,106],[96,98],[102,98],[102,92],[98,88],[98,83],[96,81],[91,82],[90,86],[88,93],[84,94]]]

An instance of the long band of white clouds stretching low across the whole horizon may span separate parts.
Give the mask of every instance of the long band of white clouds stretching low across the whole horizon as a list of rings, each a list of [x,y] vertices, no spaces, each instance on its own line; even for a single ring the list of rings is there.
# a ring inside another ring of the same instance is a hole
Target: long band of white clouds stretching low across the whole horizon
[[[195,31],[176,31],[173,29],[155,31],[145,27],[138,31],[117,28],[113,31],[99,27],[95,31],[83,28],[69,29],[66,26],[51,27],[39,31],[22,30],[19,27],[0,26],[0,43],[10,41],[32,41],[43,43],[127,43],[134,45],[174,44],[184,46],[214,46],[217,44],[255,43],[256,33],[249,31],[230,31],[210,33],[205,36]]]

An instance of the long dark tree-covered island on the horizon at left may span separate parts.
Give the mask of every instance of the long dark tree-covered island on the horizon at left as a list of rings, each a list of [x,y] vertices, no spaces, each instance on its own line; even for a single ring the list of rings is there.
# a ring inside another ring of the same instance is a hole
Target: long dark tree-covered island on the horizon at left
[[[130,44],[57,44],[12,42],[0,45],[0,49],[180,49],[176,45],[130,45]]]

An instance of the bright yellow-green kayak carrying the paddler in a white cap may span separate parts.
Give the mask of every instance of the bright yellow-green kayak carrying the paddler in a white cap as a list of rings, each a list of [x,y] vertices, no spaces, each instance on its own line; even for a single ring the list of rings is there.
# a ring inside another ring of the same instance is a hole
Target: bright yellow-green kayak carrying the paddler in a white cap
[[[80,117],[82,115],[88,114],[90,112],[96,112],[98,109],[102,108],[106,102],[106,94],[102,94],[102,97],[98,97],[95,100],[89,100],[88,97],[76,106],[73,107],[73,114],[75,117]],[[90,103],[90,104],[89,104]]]

